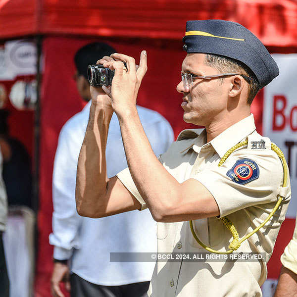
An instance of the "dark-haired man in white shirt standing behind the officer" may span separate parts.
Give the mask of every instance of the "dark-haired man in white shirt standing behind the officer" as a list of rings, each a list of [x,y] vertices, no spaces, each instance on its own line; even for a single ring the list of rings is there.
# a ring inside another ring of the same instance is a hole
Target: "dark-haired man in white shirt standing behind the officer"
[[[106,44],[95,43],[80,49],[75,56],[77,89],[89,103],[62,127],[54,160],[53,233],[49,236],[54,245],[53,296],[63,297],[59,288],[62,281],[66,281],[66,288],[71,287],[72,297],[145,296],[154,267],[153,262],[109,262],[110,252],[156,251],[156,223],[148,210],[145,215],[131,212],[101,219],[81,217],[76,211],[76,168],[91,105],[87,67],[112,52],[114,49]],[[154,153],[166,151],[173,142],[170,124],[155,111],[141,106],[137,109]],[[110,121],[106,159],[110,177],[127,167],[115,114]]]

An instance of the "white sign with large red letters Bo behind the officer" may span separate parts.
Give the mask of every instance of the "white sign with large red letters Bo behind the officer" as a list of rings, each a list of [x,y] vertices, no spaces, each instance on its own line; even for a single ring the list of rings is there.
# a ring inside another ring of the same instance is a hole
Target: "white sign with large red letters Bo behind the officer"
[[[264,89],[263,135],[285,154],[292,199],[287,217],[297,212],[297,54],[274,54],[280,75]]]

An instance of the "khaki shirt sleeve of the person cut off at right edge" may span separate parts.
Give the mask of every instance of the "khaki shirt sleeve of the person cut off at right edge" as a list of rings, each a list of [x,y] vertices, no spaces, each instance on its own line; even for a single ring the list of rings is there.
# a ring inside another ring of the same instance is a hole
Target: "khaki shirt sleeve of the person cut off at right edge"
[[[293,238],[281,256],[282,264],[297,274],[297,218]]]

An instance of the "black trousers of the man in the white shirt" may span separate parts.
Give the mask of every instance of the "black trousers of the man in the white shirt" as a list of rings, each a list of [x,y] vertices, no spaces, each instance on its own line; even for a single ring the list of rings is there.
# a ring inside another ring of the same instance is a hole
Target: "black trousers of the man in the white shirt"
[[[147,297],[149,282],[123,286],[100,286],[92,284],[77,274],[70,277],[71,297]]]

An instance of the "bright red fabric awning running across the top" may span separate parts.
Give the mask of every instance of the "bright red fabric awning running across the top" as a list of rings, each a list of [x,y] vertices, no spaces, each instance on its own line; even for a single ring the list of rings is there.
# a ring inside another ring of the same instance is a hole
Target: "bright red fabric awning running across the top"
[[[194,19],[236,21],[266,46],[297,47],[295,0],[0,0],[0,39],[57,33],[181,39]]]

